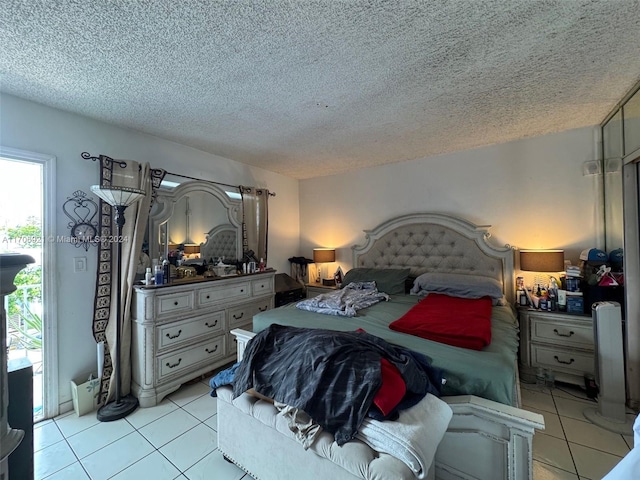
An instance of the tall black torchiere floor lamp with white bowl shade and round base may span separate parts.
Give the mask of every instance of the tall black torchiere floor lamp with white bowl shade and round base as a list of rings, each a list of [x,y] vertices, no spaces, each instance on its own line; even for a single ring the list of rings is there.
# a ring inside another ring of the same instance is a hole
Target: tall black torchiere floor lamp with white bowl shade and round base
[[[116,398],[114,401],[103,405],[98,409],[98,420],[111,422],[126,417],[138,408],[138,399],[133,395],[122,396],[120,394],[120,336],[122,330],[122,226],[124,225],[124,211],[132,203],[137,202],[146,195],[144,190],[127,187],[103,187],[92,185],[91,191],[102,200],[115,208],[116,243],[117,243],[117,290],[116,290],[116,354],[111,356],[116,374]]]

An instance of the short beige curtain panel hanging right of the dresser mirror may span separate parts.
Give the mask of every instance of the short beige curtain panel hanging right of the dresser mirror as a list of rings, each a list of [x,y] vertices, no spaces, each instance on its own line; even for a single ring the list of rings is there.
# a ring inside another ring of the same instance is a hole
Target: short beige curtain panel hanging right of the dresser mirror
[[[269,229],[269,190],[238,187],[242,196],[242,249],[245,257],[267,262]]]

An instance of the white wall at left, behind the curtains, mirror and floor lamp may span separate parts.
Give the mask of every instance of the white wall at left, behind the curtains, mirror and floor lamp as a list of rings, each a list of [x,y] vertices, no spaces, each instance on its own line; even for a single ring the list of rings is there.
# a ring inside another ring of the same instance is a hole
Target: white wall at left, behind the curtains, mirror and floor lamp
[[[90,194],[89,186],[99,181],[98,163],[80,157],[86,151],[96,156],[105,154],[116,159],[149,162],[155,168],[231,185],[266,187],[277,194],[269,201],[269,266],[289,272],[287,259],[298,251],[297,180],[5,94],[0,96],[0,144],[57,157],[57,235],[69,234],[68,218],[62,212],[63,202],[78,189]],[[10,174],[0,172],[0,175]],[[19,181],[16,178],[16,182]],[[95,248],[85,252],[70,244],[57,245],[56,255],[58,375],[62,404],[71,400],[70,380],[95,370],[96,347],[91,321],[97,258]],[[87,272],[73,272],[73,258],[78,256],[87,257]]]

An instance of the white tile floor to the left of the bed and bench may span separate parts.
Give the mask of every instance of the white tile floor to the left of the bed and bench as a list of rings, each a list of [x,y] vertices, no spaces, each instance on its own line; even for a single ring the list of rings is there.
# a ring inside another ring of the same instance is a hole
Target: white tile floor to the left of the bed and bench
[[[240,480],[217,450],[208,379],[115,422],[70,412],[34,428],[35,480]]]

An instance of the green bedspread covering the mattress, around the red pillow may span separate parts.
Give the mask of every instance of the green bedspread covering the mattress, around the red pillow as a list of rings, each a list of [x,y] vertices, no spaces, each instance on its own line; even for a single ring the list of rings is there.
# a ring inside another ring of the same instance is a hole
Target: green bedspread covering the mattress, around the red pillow
[[[493,307],[491,344],[476,351],[389,329],[388,325],[400,318],[420,298],[422,297],[415,295],[392,295],[389,302],[380,302],[359,310],[352,318],[303,311],[296,308],[295,303],[291,303],[254,316],[253,331],[259,332],[273,323],[341,331],[362,328],[389,343],[431,357],[433,364],[445,371],[447,383],[443,388],[443,395],[477,395],[506,405],[515,405],[518,325],[513,308]]]

